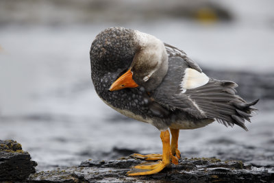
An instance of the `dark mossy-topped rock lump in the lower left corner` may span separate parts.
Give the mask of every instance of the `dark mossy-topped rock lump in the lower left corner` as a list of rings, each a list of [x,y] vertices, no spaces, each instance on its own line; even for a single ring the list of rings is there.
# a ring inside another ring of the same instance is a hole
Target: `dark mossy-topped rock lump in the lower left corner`
[[[35,173],[37,163],[16,141],[0,140],[0,182],[22,181]]]

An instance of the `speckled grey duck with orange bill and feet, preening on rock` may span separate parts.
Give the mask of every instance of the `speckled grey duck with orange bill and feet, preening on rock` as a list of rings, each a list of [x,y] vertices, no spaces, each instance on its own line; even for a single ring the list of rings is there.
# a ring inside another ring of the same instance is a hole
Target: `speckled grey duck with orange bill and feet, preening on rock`
[[[135,29],[101,31],[90,47],[90,67],[104,103],[160,131],[162,154],[133,154],[147,162],[132,167],[127,175],[151,175],[178,164],[179,130],[217,121],[247,131],[245,121],[256,114],[253,106],[258,99],[242,99],[235,82],[208,77],[182,49]]]

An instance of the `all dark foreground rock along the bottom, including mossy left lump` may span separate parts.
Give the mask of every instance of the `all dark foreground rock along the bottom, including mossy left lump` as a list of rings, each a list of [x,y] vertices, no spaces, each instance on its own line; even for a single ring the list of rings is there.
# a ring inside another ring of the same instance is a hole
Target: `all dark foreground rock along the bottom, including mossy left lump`
[[[0,141],[0,181],[12,182],[274,182],[274,167],[253,167],[237,160],[185,158],[160,173],[130,177],[143,160],[86,160],[79,166],[36,173],[36,162],[16,141]]]

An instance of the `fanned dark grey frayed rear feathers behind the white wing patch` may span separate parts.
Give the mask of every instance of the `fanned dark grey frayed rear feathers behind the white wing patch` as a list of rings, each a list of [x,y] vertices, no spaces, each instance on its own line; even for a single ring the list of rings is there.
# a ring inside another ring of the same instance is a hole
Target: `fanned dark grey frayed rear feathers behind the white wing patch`
[[[236,95],[237,86],[234,82],[210,80],[204,86],[188,90],[186,95],[195,101],[206,117],[215,119],[225,126],[236,124],[247,131],[245,120],[250,122],[251,114],[257,110],[252,106],[256,105],[259,99],[247,103]]]

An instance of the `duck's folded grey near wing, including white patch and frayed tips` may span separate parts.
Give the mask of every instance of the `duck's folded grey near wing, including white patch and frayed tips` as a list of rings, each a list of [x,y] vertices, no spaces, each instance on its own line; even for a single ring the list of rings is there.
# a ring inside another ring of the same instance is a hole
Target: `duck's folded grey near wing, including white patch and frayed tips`
[[[190,68],[182,58],[169,58],[169,71],[155,90],[155,101],[170,110],[182,110],[193,119],[215,119],[224,125],[239,125],[250,121],[251,108],[257,101],[247,103],[236,95],[238,85],[214,80]]]

